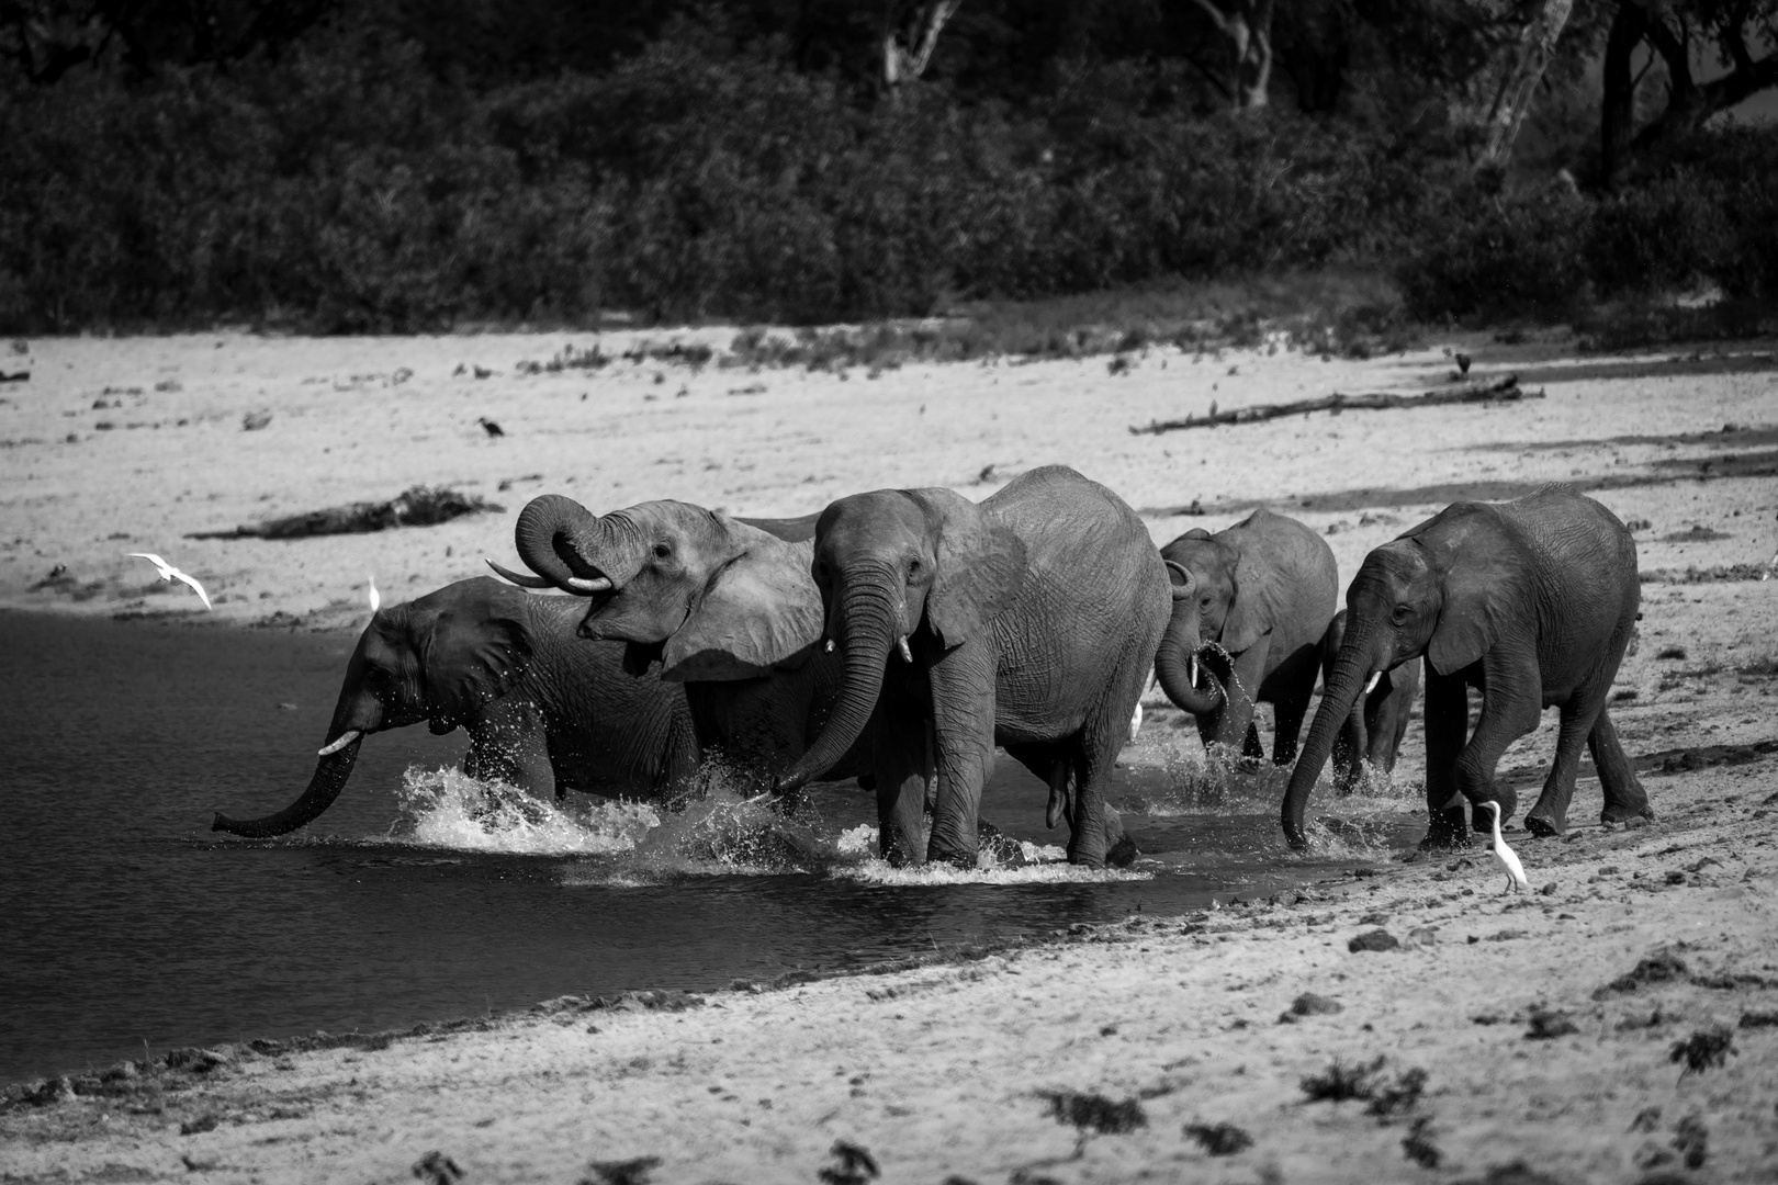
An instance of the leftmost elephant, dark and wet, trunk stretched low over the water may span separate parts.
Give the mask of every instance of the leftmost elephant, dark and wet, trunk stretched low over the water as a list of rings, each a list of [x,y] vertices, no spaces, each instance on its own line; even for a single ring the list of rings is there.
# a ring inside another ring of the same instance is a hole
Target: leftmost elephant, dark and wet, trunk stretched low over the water
[[[624,647],[574,638],[581,606],[482,576],[384,608],[359,634],[309,787],[261,819],[217,814],[251,839],[313,823],[345,789],[364,736],[421,720],[469,732],[464,773],[532,794],[661,798],[697,771],[685,693],[629,679]]]

